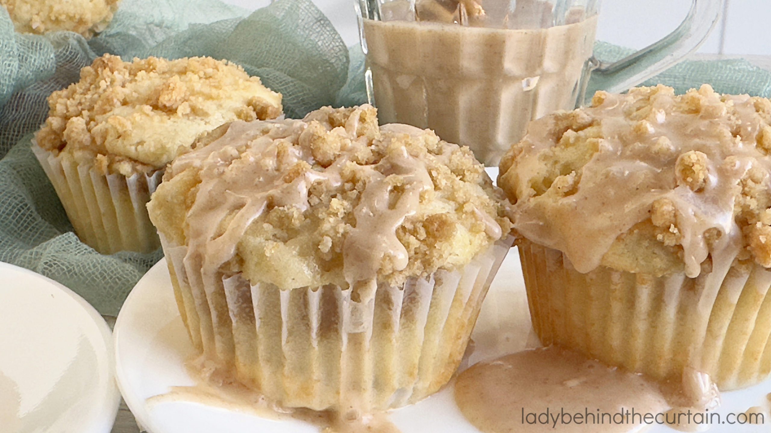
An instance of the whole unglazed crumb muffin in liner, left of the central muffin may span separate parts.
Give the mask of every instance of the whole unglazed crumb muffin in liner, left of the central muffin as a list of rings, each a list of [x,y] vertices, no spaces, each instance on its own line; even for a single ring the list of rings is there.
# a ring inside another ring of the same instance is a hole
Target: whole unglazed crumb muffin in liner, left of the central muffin
[[[157,249],[146,203],[196,137],[236,119],[273,119],[281,95],[210,58],[104,55],[49,97],[32,146],[80,239],[99,253]]]

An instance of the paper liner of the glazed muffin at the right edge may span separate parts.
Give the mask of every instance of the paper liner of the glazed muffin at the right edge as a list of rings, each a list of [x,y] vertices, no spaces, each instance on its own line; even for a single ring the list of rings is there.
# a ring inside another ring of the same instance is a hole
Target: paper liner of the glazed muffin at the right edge
[[[696,278],[573,269],[557,250],[519,245],[533,327],[606,364],[679,378],[709,374],[722,390],[771,371],[771,271],[755,263],[713,267]]]

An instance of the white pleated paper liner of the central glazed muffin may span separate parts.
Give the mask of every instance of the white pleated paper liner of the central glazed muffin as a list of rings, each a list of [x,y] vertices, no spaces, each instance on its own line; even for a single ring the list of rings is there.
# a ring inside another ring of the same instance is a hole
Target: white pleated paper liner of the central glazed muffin
[[[449,381],[513,239],[463,269],[380,284],[360,302],[335,285],[281,290],[241,274],[202,287],[187,247],[161,242],[200,353],[286,407],[369,411],[414,403]]]

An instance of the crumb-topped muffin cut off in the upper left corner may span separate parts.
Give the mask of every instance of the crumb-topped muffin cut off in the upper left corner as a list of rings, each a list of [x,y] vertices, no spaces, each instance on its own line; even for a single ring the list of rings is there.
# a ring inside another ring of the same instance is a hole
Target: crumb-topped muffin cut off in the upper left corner
[[[106,29],[120,0],[0,0],[16,32],[66,30],[90,38]]]

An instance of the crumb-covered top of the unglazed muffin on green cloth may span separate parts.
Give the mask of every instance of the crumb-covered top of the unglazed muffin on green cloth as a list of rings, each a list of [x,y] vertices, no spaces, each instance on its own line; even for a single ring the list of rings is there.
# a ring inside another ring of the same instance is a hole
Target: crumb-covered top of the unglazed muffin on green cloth
[[[35,139],[99,173],[131,176],[163,168],[223,123],[279,115],[281,94],[227,61],[123,62],[106,54],[81,70],[79,82],[52,93]]]

